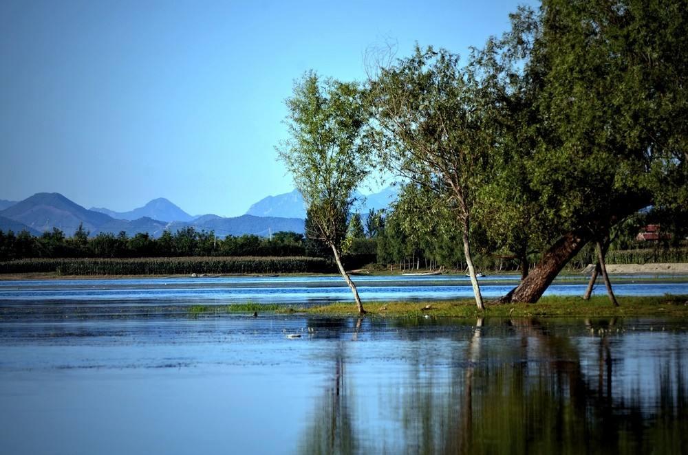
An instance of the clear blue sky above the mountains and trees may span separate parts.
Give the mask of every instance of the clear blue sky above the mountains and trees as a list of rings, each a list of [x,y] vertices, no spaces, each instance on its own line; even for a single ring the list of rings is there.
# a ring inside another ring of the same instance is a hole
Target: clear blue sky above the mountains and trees
[[[363,80],[385,38],[465,56],[519,3],[0,1],[0,199],[243,214],[292,190],[274,146],[303,71]]]

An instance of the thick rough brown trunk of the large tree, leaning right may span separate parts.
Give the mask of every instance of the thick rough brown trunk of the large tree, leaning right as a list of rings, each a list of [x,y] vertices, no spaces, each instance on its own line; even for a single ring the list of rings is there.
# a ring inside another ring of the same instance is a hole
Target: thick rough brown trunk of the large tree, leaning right
[[[543,254],[540,262],[530,271],[521,284],[499,299],[499,302],[537,302],[552,283],[552,280],[557,278],[564,265],[578,254],[590,240],[592,240],[592,231],[588,228],[579,228],[561,236]]]

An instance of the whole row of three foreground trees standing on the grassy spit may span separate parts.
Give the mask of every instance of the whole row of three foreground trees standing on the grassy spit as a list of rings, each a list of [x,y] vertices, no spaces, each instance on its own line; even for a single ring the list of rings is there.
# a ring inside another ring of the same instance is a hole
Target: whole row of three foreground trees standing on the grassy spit
[[[478,236],[522,262],[502,301],[536,302],[588,243],[604,274],[610,231],[638,210],[688,207],[685,3],[545,0],[510,18],[463,66],[447,49],[383,49],[363,84],[310,71],[294,85],[277,149],[361,313],[338,256],[375,168],[412,187],[419,236],[460,242],[480,309]]]

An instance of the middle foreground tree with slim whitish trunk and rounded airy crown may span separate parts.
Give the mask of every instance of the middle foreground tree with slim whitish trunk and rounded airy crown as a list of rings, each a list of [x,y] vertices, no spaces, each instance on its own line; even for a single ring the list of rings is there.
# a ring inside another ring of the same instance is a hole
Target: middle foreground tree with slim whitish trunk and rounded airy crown
[[[401,177],[433,192],[453,212],[462,233],[475,303],[484,309],[471,254],[471,216],[493,140],[479,90],[459,58],[444,49],[416,48],[370,81],[370,104],[385,162]]]

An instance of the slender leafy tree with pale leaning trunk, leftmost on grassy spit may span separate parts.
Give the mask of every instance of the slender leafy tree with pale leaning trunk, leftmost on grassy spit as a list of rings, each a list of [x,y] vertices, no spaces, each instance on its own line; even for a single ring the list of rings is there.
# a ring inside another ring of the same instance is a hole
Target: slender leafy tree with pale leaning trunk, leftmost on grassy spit
[[[365,313],[356,285],[344,269],[341,247],[356,188],[370,173],[366,110],[355,83],[321,79],[309,71],[286,100],[290,138],[277,146],[308,206],[308,236],[332,250],[359,313]]]

